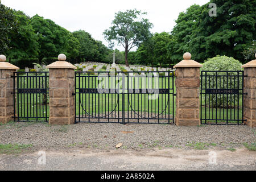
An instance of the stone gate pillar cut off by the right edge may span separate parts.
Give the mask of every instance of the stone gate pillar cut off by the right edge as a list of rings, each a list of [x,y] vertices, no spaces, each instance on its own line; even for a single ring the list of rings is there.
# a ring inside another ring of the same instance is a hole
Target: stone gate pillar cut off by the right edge
[[[245,74],[243,89],[247,93],[243,96],[243,119],[246,119],[246,125],[256,127],[256,59],[242,65],[242,68]]]

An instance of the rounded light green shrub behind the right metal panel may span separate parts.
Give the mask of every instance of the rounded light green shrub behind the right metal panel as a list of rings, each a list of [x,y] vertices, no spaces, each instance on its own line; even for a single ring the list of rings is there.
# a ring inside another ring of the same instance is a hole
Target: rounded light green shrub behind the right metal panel
[[[201,71],[242,71],[240,61],[234,59],[233,57],[228,56],[216,56],[211,59],[208,59],[204,61],[203,67],[200,68]],[[205,75],[205,73],[203,74]],[[242,88],[242,77],[239,78],[239,84],[238,85],[238,73],[237,72],[207,72],[207,75],[215,75],[213,77],[207,77],[207,80],[205,80],[205,77],[202,77],[202,87],[204,88],[212,88],[212,89],[237,89]],[[228,77],[216,77],[217,76],[228,76]],[[234,76],[233,76],[234,75]],[[233,76],[233,77],[230,77]],[[231,78],[231,79],[230,79]],[[216,80],[217,79],[217,80]],[[207,85],[206,85],[207,84]],[[228,84],[228,87],[227,87]],[[213,107],[220,107],[220,106],[228,106],[234,105],[234,103],[237,103],[237,96],[234,97],[232,95],[227,96],[226,94],[218,94],[217,97],[215,94],[209,94],[207,96],[207,102],[209,106]],[[203,99],[205,100],[205,94],[203,94]]]

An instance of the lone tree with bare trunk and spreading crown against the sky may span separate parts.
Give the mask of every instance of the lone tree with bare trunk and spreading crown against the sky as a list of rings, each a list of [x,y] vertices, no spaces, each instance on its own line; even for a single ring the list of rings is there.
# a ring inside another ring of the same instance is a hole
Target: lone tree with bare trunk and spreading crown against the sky
[[[104,31],[105,39],[113,46],[113,40],[125,48],[125,63],[129,67],[127,59],[131,48],[139,46],[144,40],[150,37],[152,23],[148,19],[138,18],[144,15],[136,9],[119,11],[115,13],[115,19],[112,21],[112,27]]]

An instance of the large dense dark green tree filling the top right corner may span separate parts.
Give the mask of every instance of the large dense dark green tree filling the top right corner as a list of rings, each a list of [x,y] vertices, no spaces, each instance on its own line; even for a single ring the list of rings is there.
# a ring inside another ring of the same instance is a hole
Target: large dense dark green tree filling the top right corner
[[[217,16],[209,16],[209,3],[216,3]],[[202,6],[192,31],[192,55],[205,60],[216,55],[232,56],[244,62],[242,52],[256,38],[256,1],[214,0]]]

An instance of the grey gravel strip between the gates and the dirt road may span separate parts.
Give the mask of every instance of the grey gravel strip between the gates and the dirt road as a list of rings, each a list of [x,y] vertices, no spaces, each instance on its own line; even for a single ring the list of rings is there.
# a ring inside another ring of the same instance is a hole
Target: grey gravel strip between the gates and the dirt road
[[[91,148],[151,150],[153,148],[229,149],[255,143],[255,129],[247,126],[175,126],[173,124],[77,123],[52,126],[38,122],[0,125],[0,144],[32,144],[31,150]]]

